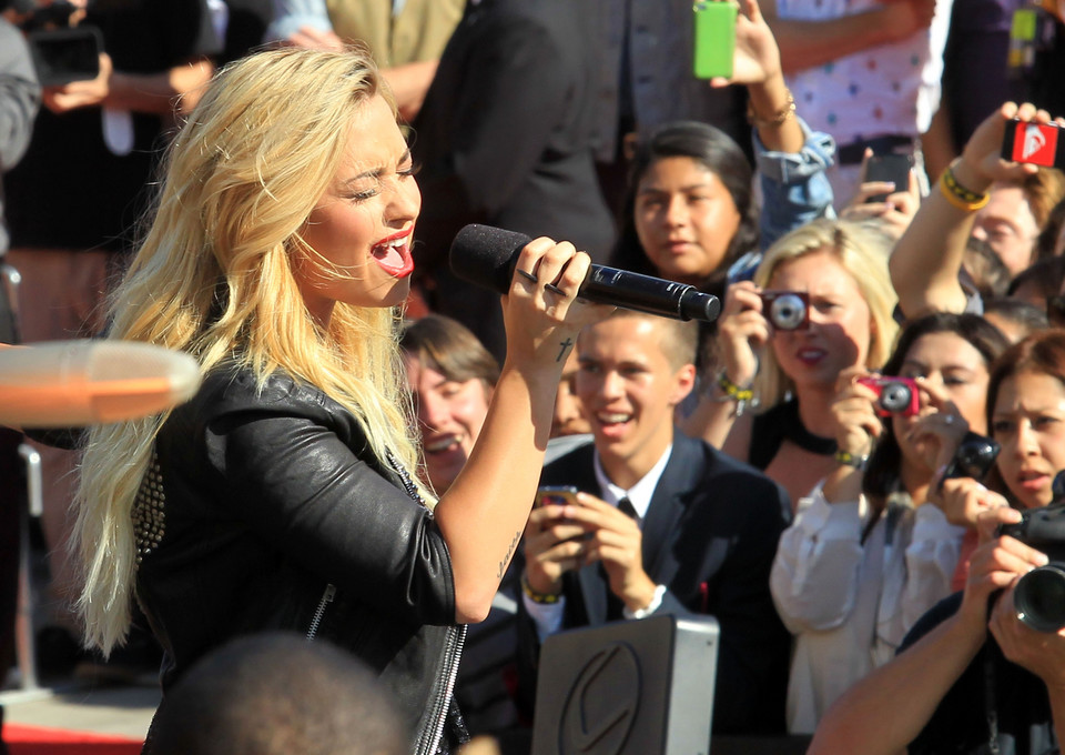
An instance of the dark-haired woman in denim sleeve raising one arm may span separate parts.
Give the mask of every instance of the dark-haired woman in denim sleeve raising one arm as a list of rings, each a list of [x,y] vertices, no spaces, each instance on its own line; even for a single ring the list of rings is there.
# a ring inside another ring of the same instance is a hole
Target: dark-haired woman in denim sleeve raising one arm
[[[758,3],[737,19],[731,79],[746,84],[754,125],[754,153],[763,208],[753,201],[753,170],[724,132],[693,121],[666,123],[635,148],[625,199],[621,236],[612,264],[697,285],[723,295],[729,265],[814,218],[832,213],[824,170],[832,162],[830,137],[795,115],[784,85],[780,50]],[[759,224],[761,229],[759,229]]]

